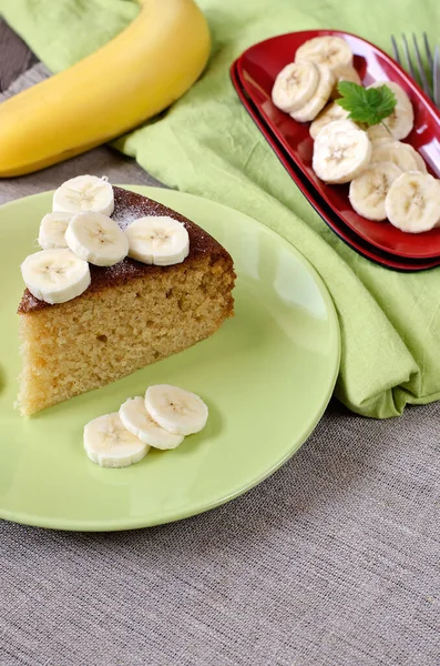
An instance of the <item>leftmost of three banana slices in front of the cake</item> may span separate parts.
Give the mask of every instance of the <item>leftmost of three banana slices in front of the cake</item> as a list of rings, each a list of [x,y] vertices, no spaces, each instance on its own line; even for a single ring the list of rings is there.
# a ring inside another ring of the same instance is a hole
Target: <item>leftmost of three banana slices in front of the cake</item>
[[[139,463],[150,446],[130,433],[117,412],[99,416],[84,426],[84,448],[101,467],[127,467]]]

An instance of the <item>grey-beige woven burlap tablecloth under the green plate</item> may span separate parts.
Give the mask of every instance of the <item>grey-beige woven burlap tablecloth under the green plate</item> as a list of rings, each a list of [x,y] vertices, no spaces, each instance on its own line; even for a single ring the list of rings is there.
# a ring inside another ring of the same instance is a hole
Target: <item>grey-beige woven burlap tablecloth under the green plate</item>
[[[85,172],[157,184],[103,148],[0,181],[0,203]],[[387,422],[334,403],[207,514],[114,534],[1,523],[0,665],[439,666],[439,424],[438,403]]]

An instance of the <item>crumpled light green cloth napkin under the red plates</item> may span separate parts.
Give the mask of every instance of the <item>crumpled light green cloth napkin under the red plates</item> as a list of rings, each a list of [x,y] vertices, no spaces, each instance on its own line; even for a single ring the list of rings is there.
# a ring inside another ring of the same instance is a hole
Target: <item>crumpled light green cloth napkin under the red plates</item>
[[[385,50],[391,32],[427,30],[434,40],[437,0],[199,0],[199,6],[213,36],[204,75],[165,114],[115,147],[167,185],[267,224],[310,261],[337,307],[342,357],[336,396],[348,407],[385,418],[401,414],[407,403],[438,400],[440,269],[387,271],[339,241],[279,164],[228,75],[244,49],[294,30],[341,29]],[[122,30],[139,6],[134,0],[1,0],[0,11],[37,56],[60,71]]]

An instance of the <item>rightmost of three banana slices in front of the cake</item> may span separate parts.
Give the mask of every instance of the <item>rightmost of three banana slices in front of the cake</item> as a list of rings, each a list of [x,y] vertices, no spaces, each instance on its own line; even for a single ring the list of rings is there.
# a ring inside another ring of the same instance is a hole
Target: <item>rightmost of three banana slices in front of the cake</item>
[[[208,416],[207,406],[198,395],[168,384],[149,386],[145,407],[158,425],[176,435],[198,433]]]

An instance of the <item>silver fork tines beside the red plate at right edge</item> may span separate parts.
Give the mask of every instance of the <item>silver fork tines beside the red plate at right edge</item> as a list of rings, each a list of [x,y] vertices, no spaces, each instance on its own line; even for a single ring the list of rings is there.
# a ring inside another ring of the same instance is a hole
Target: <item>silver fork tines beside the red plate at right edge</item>
[[[423,44],[426,51],[426,61],[428,64],[428,70],[424,68],[421,50],[419,48],[419,43],[417,41],[417,37],[412,33],[412,42],[415,46],[416,52],[416,67],[413,61],[411,60],[409,43],[406,34],[402,34],[403,42],[403,53],[405,53],[405,64],[401,61],[399,49],[397,46],[397,41],[393,34],[391,34],[391,43],[392,51],[395,53],[395,60],[401,65],[406,67],[411,77],[421,84],[421,88],[436,104],[436,107],[440,108],[440,48],[437,46],[433,51],[429,46],[428,36],[423,32]],[[428,71],[428,75],[427,75]]]

